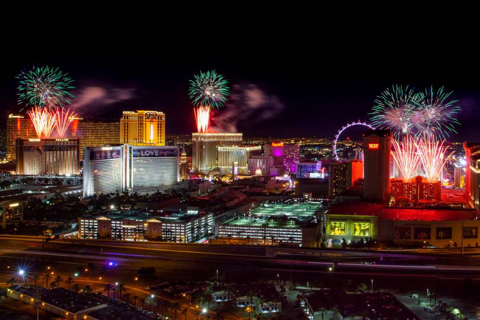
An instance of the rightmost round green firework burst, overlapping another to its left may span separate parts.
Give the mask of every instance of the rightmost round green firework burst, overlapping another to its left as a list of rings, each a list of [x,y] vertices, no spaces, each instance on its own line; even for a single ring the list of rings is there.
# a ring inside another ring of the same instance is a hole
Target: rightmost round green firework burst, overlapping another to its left
[[[455,116],[460,107],[455,106],[458,100],[451,99],[451,94],[452,92],[445,92],[443,87],[437,91],[430,87],[414,99],[423,131],[428,135],[445,139],[450,132],[456,133],[454,124],[460,123]]]

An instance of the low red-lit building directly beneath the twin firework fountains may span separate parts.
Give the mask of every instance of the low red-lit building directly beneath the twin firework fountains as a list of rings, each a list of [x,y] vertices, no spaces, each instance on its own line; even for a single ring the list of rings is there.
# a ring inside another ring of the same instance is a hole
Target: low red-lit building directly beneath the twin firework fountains
[[[421,175],[408,182],[404,182],[403,179],[390,179],[390,193],[394,199],[407,197],[410,201],[440,200],[441,183],[428,182]]]

